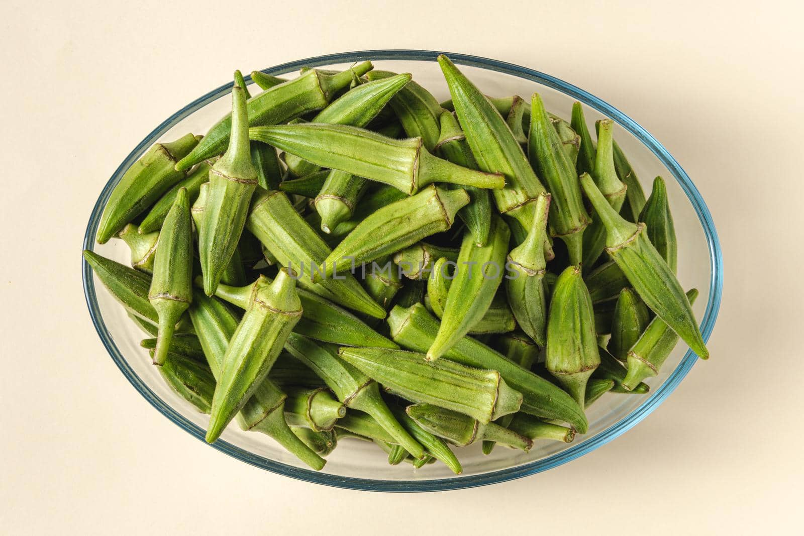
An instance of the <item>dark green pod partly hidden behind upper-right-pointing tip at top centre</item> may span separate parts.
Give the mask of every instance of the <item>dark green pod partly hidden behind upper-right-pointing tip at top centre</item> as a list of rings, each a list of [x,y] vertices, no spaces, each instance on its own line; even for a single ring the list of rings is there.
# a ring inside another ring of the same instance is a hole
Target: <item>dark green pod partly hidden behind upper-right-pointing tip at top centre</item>
[[[368,80],[388,80],[399,76],[388,71],[371,71],[366,75]],[[420,137],[425,148],[433,152],[438,142],[438,116],[441,104],[438,104],[432,93],[416,84],[413,80],[405,84],[388,103],[408,137]]]

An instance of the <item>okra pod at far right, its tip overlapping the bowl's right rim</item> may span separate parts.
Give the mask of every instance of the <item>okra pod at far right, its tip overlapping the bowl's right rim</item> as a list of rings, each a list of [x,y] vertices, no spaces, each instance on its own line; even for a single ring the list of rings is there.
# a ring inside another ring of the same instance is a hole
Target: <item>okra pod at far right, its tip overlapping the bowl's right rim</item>
[[[667,322],[695,354],[707,359],[709,351],[690,301],[667,262],[650,243],[645,224],[630,223],[618,215],[588,174],[581,175],[580,182],[605,225],[606,252],[626,274],[645,305]]]

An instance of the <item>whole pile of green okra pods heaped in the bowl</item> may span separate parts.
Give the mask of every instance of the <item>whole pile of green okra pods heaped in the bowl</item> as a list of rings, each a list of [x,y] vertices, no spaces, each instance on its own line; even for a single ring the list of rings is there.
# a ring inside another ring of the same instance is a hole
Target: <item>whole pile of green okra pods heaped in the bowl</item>
[[[613,122],[438,63],[441,103],[368,61],[253,96],[236,72],[232,113],[115,186],[96,238],[131,267],[84,258],[207,441],[234,419],[315,469],[352,438],[460,473],[448,444],[569,442],[679,338],[708,358],[665,184],[646,198]]]

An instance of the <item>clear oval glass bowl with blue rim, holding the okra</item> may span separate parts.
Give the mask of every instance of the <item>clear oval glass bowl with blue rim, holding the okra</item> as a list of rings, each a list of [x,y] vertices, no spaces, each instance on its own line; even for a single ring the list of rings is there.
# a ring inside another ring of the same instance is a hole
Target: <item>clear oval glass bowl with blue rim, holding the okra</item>
[[[414,80],[429,89],[438,100],[449,98],[435,51],[359,51],[325,55],[285,63],[265,72],[276,76],[294,76],[303,66],[348,68],[351,63],[371,59],[375,68],[394,72],[411,72]],[[462,54],[448,54],[461,66],[470,79],[492,96],[519,95],[529,99],[532,92],[541,93],[548,110],[569,117],[574,100],[585,104],[590,126],[593,121],[611,117],[616,123],[615,136],[638,173],[646,195],[656,175],[667,180],[667,190],[679,238],[679,280],[684,288],[698,288],[700,297],[695,314],[701,321],[704,340],[715,324],[722,290],[722,258],[712,217],[695,185],[678,162],[650,133],[623,113],[595,96],[571,84],[531,69]],[[248,80],[250,82],[250,80]],[[100,192],[89,218],[84,248],[92,249],[121,263],[128,264],[129,251],[121,240],[104,245],[94,241],[100,215],[109,194],[125,170],[157,141],[169,141],[185,133],[206,133],[231,106],[228,82],[187,104],[159,125],[137,145]],[[252,86],[252,91],[259,88]],[[89,313],[100,339],[121,372],[137,391],[168,419],[203,441],[207,415],[202,415],[175,395],[150,364],[146,350],[139,346],[145,335],[125,315],[121,305],[98,285],[88,264],[82,264],[84,293]],[[464,472],[455,476],[443,464],[429,464],[413,469],[410,464],[388,465],[387,456],[373,444],[358,440],[343,440],[328,456],[321,472],[312,471],[294,456],[285,452],[268,436],[242,432],[230,426],[212,446],[239,460],[289,477],[352,489],[376,491],[431,491],[457,489],[507,481],[539,473],[564,464],[602,444],[613,440],[653,411],[679,385],[697,357],[679,343],[667,359],[660,374],[650,378],[647,395],[607,394],[589,408],[589,433],[576,436],[571,444],[536,441],[529,453],[498,446],[490,456],[484,456],[478,444],[461,448],[459,458]]]

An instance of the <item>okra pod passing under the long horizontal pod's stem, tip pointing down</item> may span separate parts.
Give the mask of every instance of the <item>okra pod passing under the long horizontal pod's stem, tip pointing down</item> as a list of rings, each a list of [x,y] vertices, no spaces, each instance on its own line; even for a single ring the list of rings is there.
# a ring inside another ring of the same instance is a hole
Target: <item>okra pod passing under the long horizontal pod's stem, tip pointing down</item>
[[[477,170],[478,162],[474,160],[472,149],[466,142],[466,136],[461,131],[461,125],[458,125],[455,116],[446,111],[441,113],[440,125],[441,137],[438,138],[435,149],[438,156],[458,166]],[[469,194],[470,202],[457,214],[474,236],[474,243],[482,246],[489,237],[491,227],[491,214],[494,210],[491,207],[491,198],[489,192],[482,188],[466,186],[465,189]]]

